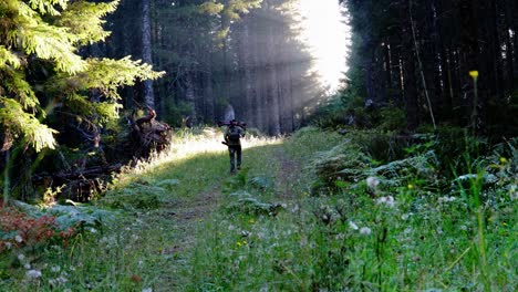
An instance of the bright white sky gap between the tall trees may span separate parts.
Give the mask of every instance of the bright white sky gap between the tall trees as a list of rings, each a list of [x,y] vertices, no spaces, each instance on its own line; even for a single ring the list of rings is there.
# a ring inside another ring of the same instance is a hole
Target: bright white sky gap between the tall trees
[[[312,70],[332,94],[346,71],[350,29],[338,0],[299,0],[301,40],[313,58]]]

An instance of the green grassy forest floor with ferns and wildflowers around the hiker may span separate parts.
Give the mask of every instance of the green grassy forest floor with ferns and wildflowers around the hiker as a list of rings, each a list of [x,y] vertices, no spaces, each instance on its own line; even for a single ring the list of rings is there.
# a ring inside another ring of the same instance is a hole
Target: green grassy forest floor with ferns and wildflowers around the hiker
[[[178,135],[95,201],[101,226],[0,259],[0,290],[516,291],[516,149],[484,158],[478,197],[428,149],[381,163],[352,135],[250,137],[234,176],[220,133]]]

